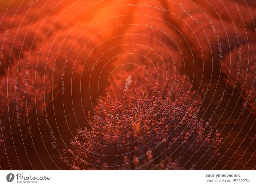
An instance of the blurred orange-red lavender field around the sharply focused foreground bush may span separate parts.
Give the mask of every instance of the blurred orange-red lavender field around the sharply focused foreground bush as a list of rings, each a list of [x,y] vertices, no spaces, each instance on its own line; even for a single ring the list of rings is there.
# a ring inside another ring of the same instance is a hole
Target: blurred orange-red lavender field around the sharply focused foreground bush
[[[93,112],[100,95],[106,95],[109,78],[115,76],[112,71],[117,68],[118,72],[132,72],[133,66],[126,64],[152,67],[162,60],[175,66],[183,82],[191,83],[187,91],[195,92],[191,93],[192,101],[209,89],[200,119],[209,119],[226,90],[210,122],[224,139],[218,150],[221,160],[203,169],[255,169],[255,88],[241,114],[256,71],[255,1],[236,0],[234,4],[230,0],[154,0],[147,1],[149,7],[145,3],[0,1],[0,43],[6,38],[0,65],[1,169],[68,169],[60,160],[62,150],[69,148],[77,129],[90,128],[87,113]],[[116,45],[116,49],[108,51]],[[239,48],[241,70],[231,95]],[[105,50],[108,52],[102,56]],[[46,120],[58,145],[55,148]]]

